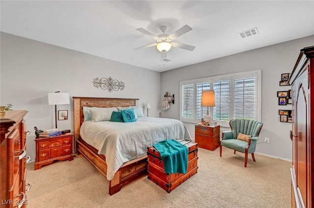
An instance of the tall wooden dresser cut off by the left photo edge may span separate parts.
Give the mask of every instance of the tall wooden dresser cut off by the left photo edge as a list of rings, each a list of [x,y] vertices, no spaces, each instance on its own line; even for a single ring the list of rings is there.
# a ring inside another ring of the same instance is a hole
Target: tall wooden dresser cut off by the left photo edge
[[[0,115],[0,208],[25,208],[26,132],[23,122],[27,111],[6,111]],[[28,186],[28,189],[26,189]]]

